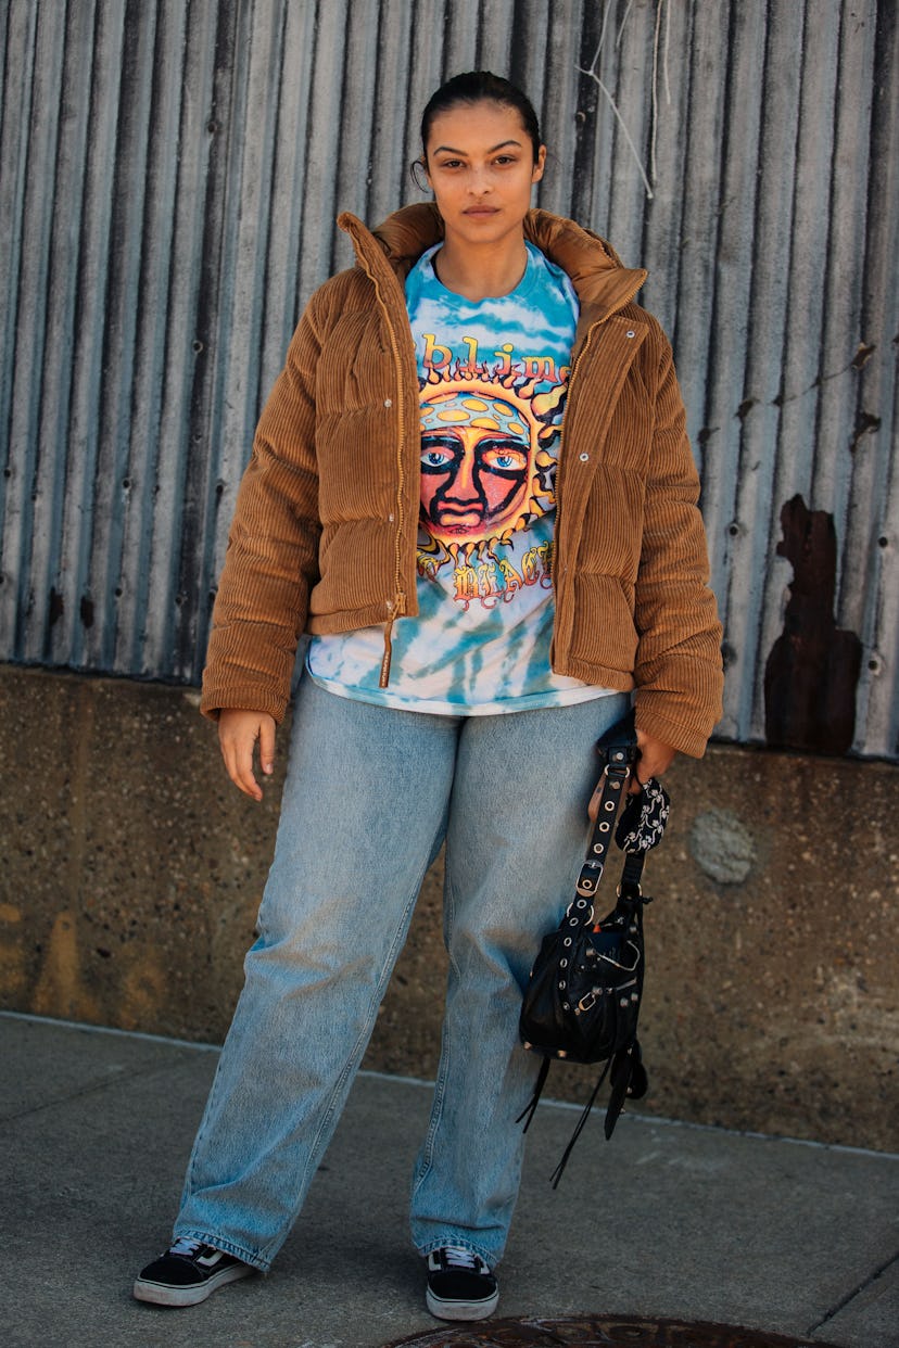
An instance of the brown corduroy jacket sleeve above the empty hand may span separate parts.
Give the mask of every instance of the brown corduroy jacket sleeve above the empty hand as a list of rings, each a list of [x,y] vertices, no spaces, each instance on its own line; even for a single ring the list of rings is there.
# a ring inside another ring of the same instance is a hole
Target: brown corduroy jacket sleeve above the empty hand
[[[244,472],[212,617],[201,710],[268,712],[280,721],[309,592],[318,576],[315,368],[321,291],[290,342]]]

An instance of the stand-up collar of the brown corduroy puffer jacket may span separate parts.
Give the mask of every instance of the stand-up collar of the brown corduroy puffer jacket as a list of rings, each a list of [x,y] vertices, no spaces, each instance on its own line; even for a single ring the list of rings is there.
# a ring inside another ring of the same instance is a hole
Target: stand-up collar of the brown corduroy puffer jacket
[[[375,275],[385,267],[400,282],[426,248],[443,237],[443,221],[433,202],[403,206],[375,231],[344,212],[337,224],[353,240],[359,260]],[[602,322],[636,295],[647,278],[642,268],[628,268],[611,244],[590,229],[549,210],[528,210],[524,235],[550,262],[571,279],[581,305],[581,322]]]

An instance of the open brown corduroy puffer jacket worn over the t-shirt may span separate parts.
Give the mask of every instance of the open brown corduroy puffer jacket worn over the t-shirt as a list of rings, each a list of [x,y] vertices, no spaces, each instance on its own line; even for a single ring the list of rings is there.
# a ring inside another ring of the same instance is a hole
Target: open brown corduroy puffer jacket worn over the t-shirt
[[[419,386],[403,280],[442,237],[431,205],[371,233],[313,295],[266,404],[213,611],[202,710],[280,721],[303,631],[418,612]],[[700,483],[670,345],[633,303],[646,279],[598,236],[543,210],[526,235],[581,314],[557,473],[553,669],[635,687],[638,725],[700,756],[721,714],[721,628]]]

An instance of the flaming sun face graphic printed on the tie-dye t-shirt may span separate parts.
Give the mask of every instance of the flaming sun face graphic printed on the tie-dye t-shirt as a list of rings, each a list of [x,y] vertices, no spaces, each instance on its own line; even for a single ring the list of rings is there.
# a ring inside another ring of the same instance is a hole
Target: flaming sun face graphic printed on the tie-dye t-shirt
[[[520,373],[433,371],[421,395],[427,569],[508,543],[555,504],[551,453],[565,384],[534,392]]]

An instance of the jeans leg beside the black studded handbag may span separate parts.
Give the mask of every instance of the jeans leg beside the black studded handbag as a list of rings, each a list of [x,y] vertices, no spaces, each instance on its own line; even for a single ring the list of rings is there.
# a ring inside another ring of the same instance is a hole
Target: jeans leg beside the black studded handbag
[[[412,1182],[421,1254],[460,1244],[489,1264],[503,1255],[524,1150],[516,1119],[540,1066],[519,1042],[522,991],[574,894],[600,772],[594,743],[628,705],[615,694],[462,729],[446,832],[446,1016]]]

